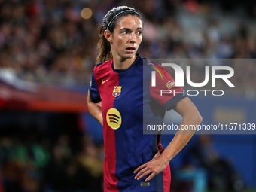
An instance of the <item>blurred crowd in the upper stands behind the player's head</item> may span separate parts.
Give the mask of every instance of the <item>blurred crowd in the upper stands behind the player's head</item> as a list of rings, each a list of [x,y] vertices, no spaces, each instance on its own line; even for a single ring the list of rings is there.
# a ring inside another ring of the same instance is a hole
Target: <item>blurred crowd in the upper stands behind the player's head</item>
[[[118,5],[134,7],[142,15],[139,53],[144,57],[255,59],[256,6],[245,2],[0,0],[0,68],[28,81],[87,86],[99,51],[97,27]],[[90,8],[91,17],[85,12],[84,19],[83,8]],[[255,63],[229,65],[236,72],[236,92],[254,98]],[[192,80],[202,82],[203,65],[192,66]]]

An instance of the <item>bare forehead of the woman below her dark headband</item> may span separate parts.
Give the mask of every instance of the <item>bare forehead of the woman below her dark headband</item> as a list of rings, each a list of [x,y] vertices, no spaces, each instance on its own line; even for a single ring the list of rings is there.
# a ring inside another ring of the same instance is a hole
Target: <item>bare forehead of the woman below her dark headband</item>
[[[122,29],[122,28],[142,28],[142,20],[139,19],[137,16],[127,15],[124,17],[120,17],[120,19],[117,20],[117,26],[116,29]]]

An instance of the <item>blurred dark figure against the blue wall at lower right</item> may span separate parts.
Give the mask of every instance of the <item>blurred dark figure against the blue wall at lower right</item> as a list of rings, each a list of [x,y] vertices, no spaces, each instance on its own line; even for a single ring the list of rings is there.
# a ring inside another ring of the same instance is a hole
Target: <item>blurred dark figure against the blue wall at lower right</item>
[[[172,189],[184,191],[245,191],[245,181],[230,158],[215,148],[214,136],[194,136],[181,158],[181,167],[172,169]],[[192,189],[192,190],[191,190]]]

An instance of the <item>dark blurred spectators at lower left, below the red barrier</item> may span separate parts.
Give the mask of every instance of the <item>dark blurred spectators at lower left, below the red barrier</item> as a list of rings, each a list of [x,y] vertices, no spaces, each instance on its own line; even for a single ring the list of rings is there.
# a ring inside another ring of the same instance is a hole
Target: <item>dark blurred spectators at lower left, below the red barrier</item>
[[[24,140],[25,139],[25,140]],[[62,134],[56,142],[29,134],[0,139],[5,192],[102,192],[103,145],[81,137],[80,149]]]

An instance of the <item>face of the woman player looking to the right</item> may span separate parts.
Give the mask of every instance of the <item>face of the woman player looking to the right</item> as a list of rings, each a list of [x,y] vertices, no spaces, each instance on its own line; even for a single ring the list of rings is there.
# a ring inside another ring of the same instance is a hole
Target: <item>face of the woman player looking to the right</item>
[[[117,20],[111,34],[111,51],[121,59],[134,58],[142,42],[142,20],[137,16],[125,16]]]

